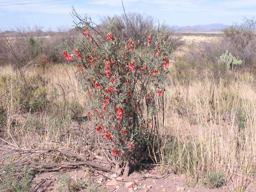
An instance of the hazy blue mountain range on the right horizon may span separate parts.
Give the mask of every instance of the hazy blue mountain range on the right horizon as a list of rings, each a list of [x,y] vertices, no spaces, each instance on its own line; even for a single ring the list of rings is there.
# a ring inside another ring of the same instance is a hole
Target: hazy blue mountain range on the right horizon
[[[172,26],[172,29],[174,31],[182,31],[182,32],[187,32],[187,31],[220,31],[223,29],[228,28],[228,25],[223,25],[221,23],[213,23],[209,25],[195,25],[195,26]]]

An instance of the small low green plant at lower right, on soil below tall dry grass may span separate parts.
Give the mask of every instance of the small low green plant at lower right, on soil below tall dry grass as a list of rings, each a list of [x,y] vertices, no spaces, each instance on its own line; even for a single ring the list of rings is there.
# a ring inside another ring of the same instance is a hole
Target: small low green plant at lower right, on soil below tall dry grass
[[[206,186],[210,188],[220,188],[225,184],[225,174],[223,171],[212,171],[206,181]]]

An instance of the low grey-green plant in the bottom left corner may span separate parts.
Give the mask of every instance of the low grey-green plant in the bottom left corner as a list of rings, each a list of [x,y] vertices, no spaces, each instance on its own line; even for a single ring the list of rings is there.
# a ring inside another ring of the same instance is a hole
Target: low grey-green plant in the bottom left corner
[[[23,167],[22,171],[19,172],[20,167],[15,166],[11,163],[5,165],[0,173],[0,190],[7,192],[29,192],[31,191],[31,179],[33,175],[29,170],[29,167]]]

